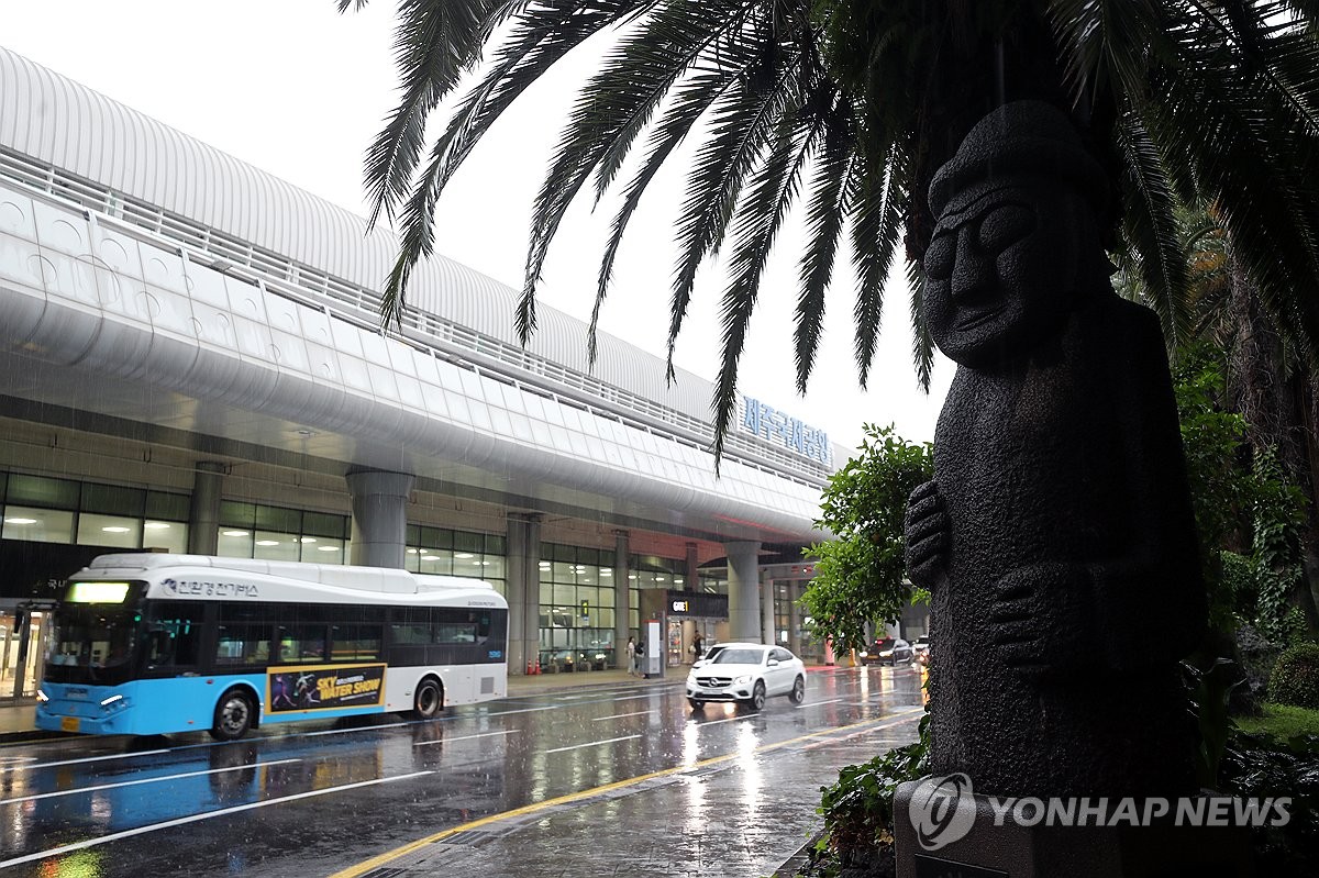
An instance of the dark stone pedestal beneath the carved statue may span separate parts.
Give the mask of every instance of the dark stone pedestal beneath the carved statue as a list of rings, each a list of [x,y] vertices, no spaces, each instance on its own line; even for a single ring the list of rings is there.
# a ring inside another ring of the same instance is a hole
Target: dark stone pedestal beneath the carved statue
[[[1253,878],[1248,829],[1237,827],[1033,827],[1009,813],[995,825],[989,798],[963,796],[973,820],[954,820],[922,848],[911,821],[919,782],[898,786],[893,802],[897,878]],[[1175,807],[1175,804],[1174,804]]]

